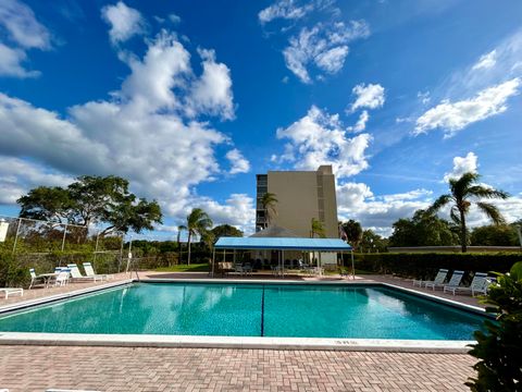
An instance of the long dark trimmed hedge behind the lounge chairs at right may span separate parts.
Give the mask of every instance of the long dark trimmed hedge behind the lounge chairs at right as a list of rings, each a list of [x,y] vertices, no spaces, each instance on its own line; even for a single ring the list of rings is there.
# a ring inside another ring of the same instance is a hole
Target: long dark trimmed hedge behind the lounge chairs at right
[[[481,254],[356,254],[356,268],[377,273],[395,273],[405,278],[430,279],[439,268],[473,272],[507,272],[522,253]]]

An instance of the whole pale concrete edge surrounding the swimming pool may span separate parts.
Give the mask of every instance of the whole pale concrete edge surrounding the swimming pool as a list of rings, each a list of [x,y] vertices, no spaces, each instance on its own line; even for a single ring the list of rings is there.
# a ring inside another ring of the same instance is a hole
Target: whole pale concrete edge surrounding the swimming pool
[[[0,315],[45,305],[57,301],[73,298],[86,294],[115,289],[129,283],[222,283],[222,284],[291,284],[291,285],[380,285],[390,287],[426,299],[436,301],[475,314],[486,315],[484,309],[456,301],[442,298],[427,293],[396,286],[383,282],[316,282],[281,280],[210,280],[210,279],[127,279],[98,286],[25,301],[0,307]],[[209,336],[209,335],[154,335],[154,334],[80,334],[80,333],[39,333],[39,332],[0,332],[0,345],[66,345],[66,346],[124,346],[124,347],[186,347],[186,348],[258,348],[258,350],[318,350],[352,352],[394,352],[394,353],[468,353],[469,344],[474,341],[445,340],[388,340],[388,339],[325,339],[325,338],[258,338],[258,336]]]

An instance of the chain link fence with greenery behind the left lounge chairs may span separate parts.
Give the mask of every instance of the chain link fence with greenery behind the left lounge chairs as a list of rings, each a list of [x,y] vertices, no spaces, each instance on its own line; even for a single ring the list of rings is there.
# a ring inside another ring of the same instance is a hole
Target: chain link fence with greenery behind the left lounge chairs
[[[48,273],[67,264],[117,273],[126,267],[124,245],[123,233],[103,228],[0,216],[0,286],[27,285],[29,268]]]

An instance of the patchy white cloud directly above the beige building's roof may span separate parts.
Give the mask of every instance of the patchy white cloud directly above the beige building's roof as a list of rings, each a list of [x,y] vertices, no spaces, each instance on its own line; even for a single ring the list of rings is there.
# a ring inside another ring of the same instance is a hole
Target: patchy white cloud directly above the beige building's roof
[[[307,115],[286,128],[277,130],[277,138],[289,139],[281,161],[293,162],[296,169],[316,170],[332,164],[337,177],[347,177],[368,169],[365,154],[370,134],[347,137],[338,114],[330,115],[312,106]]]

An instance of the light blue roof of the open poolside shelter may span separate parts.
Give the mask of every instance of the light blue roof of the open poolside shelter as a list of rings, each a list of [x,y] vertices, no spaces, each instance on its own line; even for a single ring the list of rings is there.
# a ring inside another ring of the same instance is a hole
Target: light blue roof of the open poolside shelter
[[[214,247],[216,249],[351,250],[351,246],[339,238],[221,237]]]

